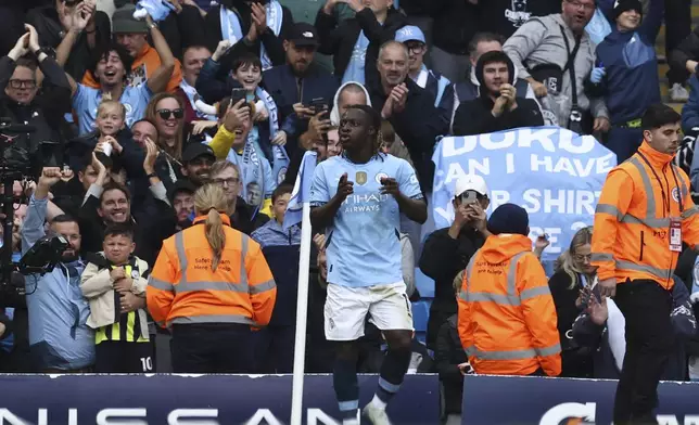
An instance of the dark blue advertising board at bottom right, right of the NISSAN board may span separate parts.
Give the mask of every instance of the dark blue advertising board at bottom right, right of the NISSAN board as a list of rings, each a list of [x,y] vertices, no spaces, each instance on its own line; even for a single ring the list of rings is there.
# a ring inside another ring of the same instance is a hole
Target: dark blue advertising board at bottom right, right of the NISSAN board
[[[617,381],[467,375],[461,423],[607,425],[615,390]],[[662,382],[658,398],[658,424],[699,425],[699,383]]]

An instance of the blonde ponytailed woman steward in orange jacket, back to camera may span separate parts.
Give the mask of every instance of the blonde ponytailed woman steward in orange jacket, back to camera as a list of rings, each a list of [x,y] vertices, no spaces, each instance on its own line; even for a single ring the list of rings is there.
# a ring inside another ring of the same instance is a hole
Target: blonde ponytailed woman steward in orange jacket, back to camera
[[[277,286],[259,245],[230,227],[217,184],[194,193],[196,218],[163,243],[148,309],[173,333],[177,373],[254,372],[251,326],[269,323]]]

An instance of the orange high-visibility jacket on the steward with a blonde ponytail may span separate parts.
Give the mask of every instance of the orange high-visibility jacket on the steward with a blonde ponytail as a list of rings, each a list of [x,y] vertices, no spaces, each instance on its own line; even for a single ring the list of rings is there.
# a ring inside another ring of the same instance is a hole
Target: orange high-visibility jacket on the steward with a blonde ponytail
[[[228,216],[220,217],[226,245],[216,271],[204,233],[206,216],[163,242],[145,293],[148,309],[161,326],[269,323],[277,286],[259,244],[231,228]]]

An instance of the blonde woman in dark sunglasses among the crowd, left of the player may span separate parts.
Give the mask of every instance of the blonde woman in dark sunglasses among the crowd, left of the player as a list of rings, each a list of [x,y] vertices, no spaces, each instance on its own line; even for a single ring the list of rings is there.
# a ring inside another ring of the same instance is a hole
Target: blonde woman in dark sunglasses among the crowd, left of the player
[[[185,106],[173,93],[157,93],[145,107],[145,119],[155,125],[158,147],[155,173],[169,190],[182,178],[182,146],[185,144]]]

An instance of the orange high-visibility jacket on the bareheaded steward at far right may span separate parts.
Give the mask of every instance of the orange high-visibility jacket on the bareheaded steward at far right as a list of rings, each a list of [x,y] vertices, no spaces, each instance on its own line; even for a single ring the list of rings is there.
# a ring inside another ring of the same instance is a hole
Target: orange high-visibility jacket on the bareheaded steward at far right
[[[699,209],[691,201],[687,175],[672,158],[644,141],[634,156],[607,176],[593,230],[592,263],[598,267],[600,281],[649,279],[671,289],[679,255],[670,250],[671,218],[682,221],[684,242],[691,247],[699,244]]]

